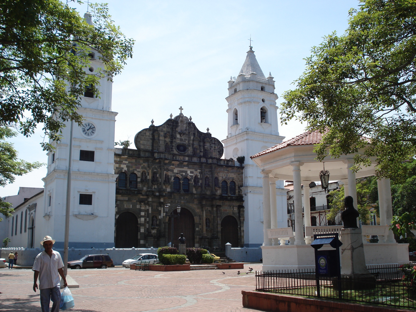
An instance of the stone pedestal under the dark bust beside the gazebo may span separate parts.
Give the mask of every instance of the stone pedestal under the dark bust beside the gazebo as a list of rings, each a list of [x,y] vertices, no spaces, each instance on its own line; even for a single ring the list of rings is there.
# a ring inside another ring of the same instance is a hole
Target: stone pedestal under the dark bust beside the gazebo
[[[343,228],[341,237],[341,277],[344,288],[374,288],[375,277],[365,265],[362,230]]]

